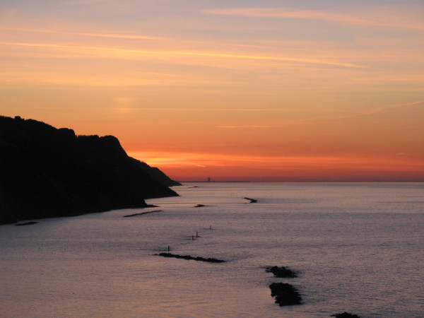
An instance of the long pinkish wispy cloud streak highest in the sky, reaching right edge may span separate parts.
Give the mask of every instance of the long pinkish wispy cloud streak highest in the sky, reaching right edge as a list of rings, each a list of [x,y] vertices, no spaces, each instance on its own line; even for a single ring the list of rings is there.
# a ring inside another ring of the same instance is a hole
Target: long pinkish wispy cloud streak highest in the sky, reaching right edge
[[[399,16],[365,16],[364,14],[334,13],[331,11],[293,11],[288,8],[218,8],[201,10],[201,13],[220,16],[248,16],[256,18],[291,18],[324,20],[343,25],[373,25],[380,27],[424,29],[423,20],[411,21]],[[365,16],[365,17],[364,17]]]

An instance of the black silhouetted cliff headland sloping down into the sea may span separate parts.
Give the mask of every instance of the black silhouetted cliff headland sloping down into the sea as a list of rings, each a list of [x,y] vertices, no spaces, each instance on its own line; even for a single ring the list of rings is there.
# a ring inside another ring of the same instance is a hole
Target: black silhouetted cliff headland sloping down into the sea
[[[140,164],[114,136],[76,136],[32,119],[0,117],[0,224],[177,196]]]

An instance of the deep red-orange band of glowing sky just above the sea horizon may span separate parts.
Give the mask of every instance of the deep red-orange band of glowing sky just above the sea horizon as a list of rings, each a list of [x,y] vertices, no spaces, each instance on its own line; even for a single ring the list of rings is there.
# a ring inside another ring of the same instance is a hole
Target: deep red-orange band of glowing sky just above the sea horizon
[[[157,155],[161,155],[157,157]],[[379,157],[335,156],[248,156],[216,153],[129,153],[151,166],[159,167],[182,181],[201,181],[213,176],[216,181],[231,181],[243,175],[252,181],[394,181],[396,178],[424,174],[422,160]],[[402,154],[403,155],[403,154]],[[181,171],[184,171],[180,175]],[[190,173],[191,172],[191,173]],[[331,175],[331,177],[329,177]],[[325,177],[326,176],[326,177]]]

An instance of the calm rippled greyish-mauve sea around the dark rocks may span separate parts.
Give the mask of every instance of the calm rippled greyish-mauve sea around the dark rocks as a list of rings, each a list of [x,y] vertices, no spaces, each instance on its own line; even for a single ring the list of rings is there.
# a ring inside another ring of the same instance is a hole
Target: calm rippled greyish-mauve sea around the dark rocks
[[[180,197],[148,200],[159,208],[1,225],[0,316],[424,317],[424,184],[174,189]],[[154,255],[168,245],[228,262]],[[300,275],[273,278],[273,265]],[[304,304],[274,304],[276,281]]]

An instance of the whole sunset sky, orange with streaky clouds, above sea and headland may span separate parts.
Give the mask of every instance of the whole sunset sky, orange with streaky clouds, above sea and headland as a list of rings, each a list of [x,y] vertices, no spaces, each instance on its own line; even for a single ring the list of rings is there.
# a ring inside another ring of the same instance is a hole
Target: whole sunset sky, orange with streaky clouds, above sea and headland
[[[424,181],[424,1],[2,0],[0,114],[180,181]]]

